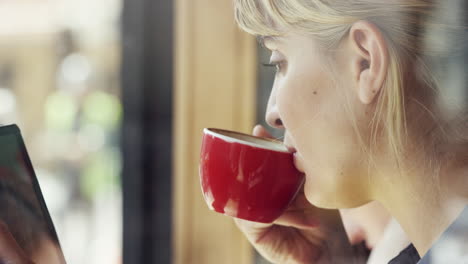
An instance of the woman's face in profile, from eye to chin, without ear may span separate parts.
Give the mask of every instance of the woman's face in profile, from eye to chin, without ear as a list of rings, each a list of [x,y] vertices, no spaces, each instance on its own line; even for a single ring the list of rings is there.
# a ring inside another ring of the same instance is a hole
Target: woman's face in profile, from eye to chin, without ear
[[[276,126],[280,119],[285,144],[297,149],[307,199],[324,208],[364,204],[367,165],[346,101],[364,135],[370,117],[356,96],[346,46],[327,58],[312,37],[293,33],[264,45],[277,65],[266,118]]]

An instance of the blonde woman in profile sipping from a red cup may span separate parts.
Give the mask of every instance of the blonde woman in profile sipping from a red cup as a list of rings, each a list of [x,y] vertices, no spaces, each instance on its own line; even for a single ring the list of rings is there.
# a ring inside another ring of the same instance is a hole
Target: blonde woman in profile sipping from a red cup
[[[273,224],[236,220],[267,259],[365,263],[337,209],[375,200],[412,242],[390,263],[416,263],[468,213],[468,115],[438,103],[444,87],[428,62],[444,46],[424,48],[427,30],[456,28],[432,20],[439,9],[433,0],[235,1],[238,24],[277,68],[267,122],[286,129],[306,175]]]

